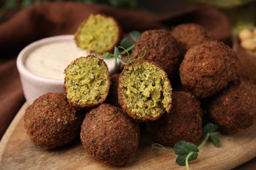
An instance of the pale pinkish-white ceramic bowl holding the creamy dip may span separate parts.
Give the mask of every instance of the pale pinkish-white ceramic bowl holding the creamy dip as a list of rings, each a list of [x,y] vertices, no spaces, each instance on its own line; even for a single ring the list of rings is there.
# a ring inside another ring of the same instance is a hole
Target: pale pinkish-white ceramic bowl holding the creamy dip
[[[74,35],[59,35],[32,42],[32,44],[26,46],[20,54],[18,54],[16,65],[20,74],[24,95],[28,103],[32,104],[35,99],[47,92],[64,92],[64,79],[44,78],[28,71],[25,66],[25,61],[33,50],[45,44],[63,41],[74,41]],[[104,60],[108,60],[106,64],[108,65],[110,75],[115,73],[117,67],[114,67],[114,58]]]

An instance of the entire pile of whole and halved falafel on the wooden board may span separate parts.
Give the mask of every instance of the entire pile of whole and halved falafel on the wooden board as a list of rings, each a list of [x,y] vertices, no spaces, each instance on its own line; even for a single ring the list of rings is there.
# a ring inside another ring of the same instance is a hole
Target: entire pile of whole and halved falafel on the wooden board
[[[255,85],[240,80],[236,54],[200,25],[144,31],[131,58],[112,76],[103,59],[72,61],[65,93],[46,93],[26,110],[32,141],[49,149],[80,135],[87,154],[123,166],[135,157],[142,123],[154,141],[173,147],[200,140],[203,114],[230,135],[256,122]]]

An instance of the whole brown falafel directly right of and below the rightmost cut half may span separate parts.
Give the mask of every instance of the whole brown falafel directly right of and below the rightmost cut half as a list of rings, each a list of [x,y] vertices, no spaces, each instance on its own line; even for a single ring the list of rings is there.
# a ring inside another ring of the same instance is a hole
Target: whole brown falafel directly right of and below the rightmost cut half
[[[196,143],[202,136],[200,101],[189,92],[173,92],[173,109],[154,122],[147,131],[160,144],[173,147],[179,141]]]

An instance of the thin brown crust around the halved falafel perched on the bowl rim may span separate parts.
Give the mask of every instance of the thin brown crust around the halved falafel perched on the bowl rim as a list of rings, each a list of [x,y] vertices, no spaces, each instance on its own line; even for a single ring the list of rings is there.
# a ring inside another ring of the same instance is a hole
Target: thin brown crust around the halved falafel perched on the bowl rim
[[[118,42],[120,41],[122,35],[123,35],[123,29],[121,27],[121,25],[119,24],[119,22],[117,22],[117,20],[115,18],[113,18],[112,16],[106,16],[105,14],[100,14],[103,18],[112,18],[112,20],[114,20],[114,22],[116,23],[117,27],[118,27],[118,33],[117,33],[117,40],[116,42],[113,42],[112,46],[110,46],[110,48],[106,48],[104,50],[104,52],[112,52],[114,50],[114,47],[117,46]],[[88,18],[87,18],[88,19]],[[85,22],[87,22],[87,19],[85,19],[81,25],[85,24]],[[80,34],[81,32],[81,29],[77,29],[77,31],[75,32],[75,35],[74,35],[74,40],[75,40],[75,44],[77,44],[77,46],[79,47],[79,41],[77,40],[77,36]],[[87,49],[85,49],[87,50]],[[88,52],[95,52],[95,50],[91,50]],[[100,53],[98,53],[100,54]]]

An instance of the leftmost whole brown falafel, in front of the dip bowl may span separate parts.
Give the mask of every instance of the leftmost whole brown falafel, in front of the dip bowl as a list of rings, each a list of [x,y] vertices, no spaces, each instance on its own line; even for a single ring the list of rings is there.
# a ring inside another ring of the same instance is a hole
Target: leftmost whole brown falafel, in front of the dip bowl
[[[79,137],[83,118],[64,93],[45,93],[26,109],[24,129],[35,144],[51,149]]]

